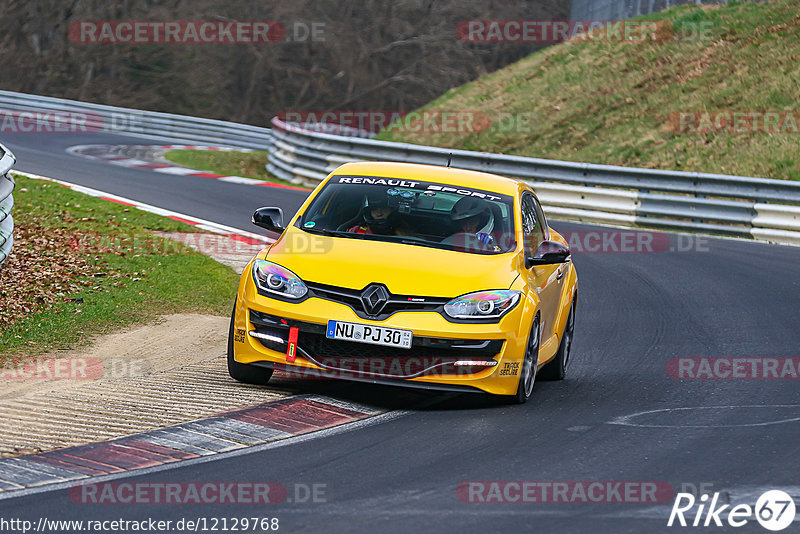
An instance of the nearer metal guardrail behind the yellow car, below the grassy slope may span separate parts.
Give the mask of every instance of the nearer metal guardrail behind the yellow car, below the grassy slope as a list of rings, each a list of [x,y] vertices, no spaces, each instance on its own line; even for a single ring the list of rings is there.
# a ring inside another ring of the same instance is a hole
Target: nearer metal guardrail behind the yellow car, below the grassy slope
[[[530,182],[554,218],[752,237],[800,245],[800,183],[570,163],[313,132],[272,119],[267,169],[316,185],[342,163],[405,161]]]

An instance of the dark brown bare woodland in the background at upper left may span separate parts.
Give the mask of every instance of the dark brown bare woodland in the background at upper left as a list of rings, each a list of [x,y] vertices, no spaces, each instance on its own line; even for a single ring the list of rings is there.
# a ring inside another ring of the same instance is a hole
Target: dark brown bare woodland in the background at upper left
[[[410,110],[540,44],[460,41],[471,19],[564,19],[559,0],[7,0],[0,87],[267,124],[282,110]],[[121,20],[315,23],[324,41],[91,44],[70,24]]]

